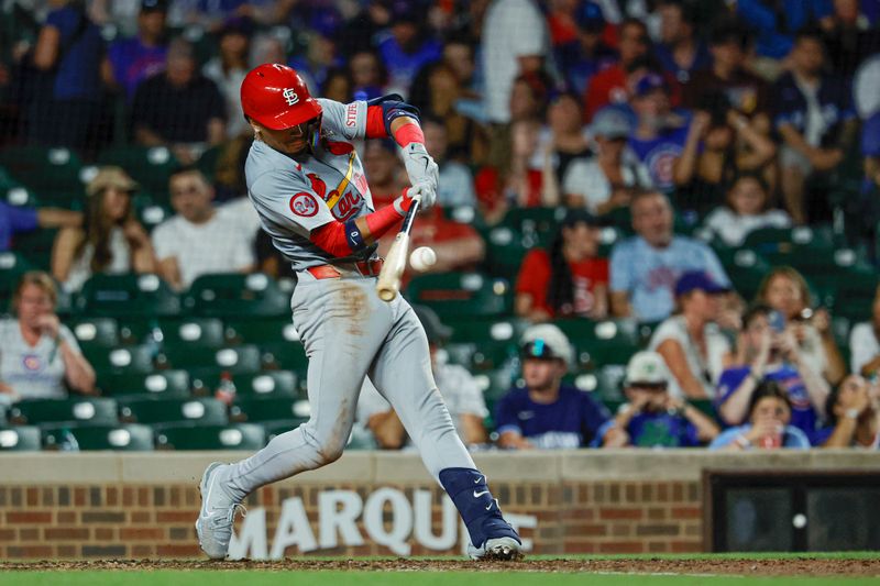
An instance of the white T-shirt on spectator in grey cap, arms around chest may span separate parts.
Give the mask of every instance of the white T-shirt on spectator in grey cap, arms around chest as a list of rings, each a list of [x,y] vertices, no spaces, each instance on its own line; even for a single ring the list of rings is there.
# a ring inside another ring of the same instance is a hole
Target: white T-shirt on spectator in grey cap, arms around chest
[[[624,154],[620,175],[627,187],[651,187],[651,175],[644,163],[628,152]],[[578,158],[565,169],[562,192],[584,198],[586,209],[596,213],[598,207],[612,197],[612,184],[595,158]]]

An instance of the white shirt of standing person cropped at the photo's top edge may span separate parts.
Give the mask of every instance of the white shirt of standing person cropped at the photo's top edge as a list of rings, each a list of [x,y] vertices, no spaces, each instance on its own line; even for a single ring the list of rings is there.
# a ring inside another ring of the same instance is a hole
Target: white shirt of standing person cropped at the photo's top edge
[[[510,89],[518,57],[547,55],[550,36],[532,0],[494,0],[483,24],[484,104],[491,122],[510,121]]]

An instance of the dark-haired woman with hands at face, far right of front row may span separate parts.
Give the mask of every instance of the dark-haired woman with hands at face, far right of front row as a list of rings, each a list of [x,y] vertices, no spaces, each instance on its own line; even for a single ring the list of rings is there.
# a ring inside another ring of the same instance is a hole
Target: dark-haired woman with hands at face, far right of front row
[[[880,449],[880,400],[859,375],[847,376],[828,397],[827,439],[823,447]]]

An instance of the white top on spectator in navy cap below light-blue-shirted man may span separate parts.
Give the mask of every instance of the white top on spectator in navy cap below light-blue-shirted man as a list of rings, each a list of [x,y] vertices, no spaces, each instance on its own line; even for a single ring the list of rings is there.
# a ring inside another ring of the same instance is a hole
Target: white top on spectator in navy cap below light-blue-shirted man
[[[700,353],[700,347],[691,339],[684,322],[684,316],[672,316],[654,330],[648,350],[657,351],[658,346],[667,340],[674,340],[681,344],[688,366],[694,377],[703,385],[706,397],[715,398],[715,387],[724,372],[724,355],[730,352],[730,343],[722,333],[718,325],[707,323],[703,330],[706,340],[706,357]],[[670,368],[670,372],[672,369]],[[681,386],[674,376],[670,380],[669,392],[673,397],[683,397]]]

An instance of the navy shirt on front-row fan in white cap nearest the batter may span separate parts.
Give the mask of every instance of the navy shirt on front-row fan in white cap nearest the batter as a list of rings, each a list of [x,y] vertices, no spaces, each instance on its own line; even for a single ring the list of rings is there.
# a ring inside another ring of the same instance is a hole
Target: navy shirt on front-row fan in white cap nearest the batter
[[[588,445],[610,419],[604,405],[575,387],[562,385],[551,403],[535,402],[526,388],[515,388],[498,401],[498,433],[515,431],[535,447],[560,449]]]

